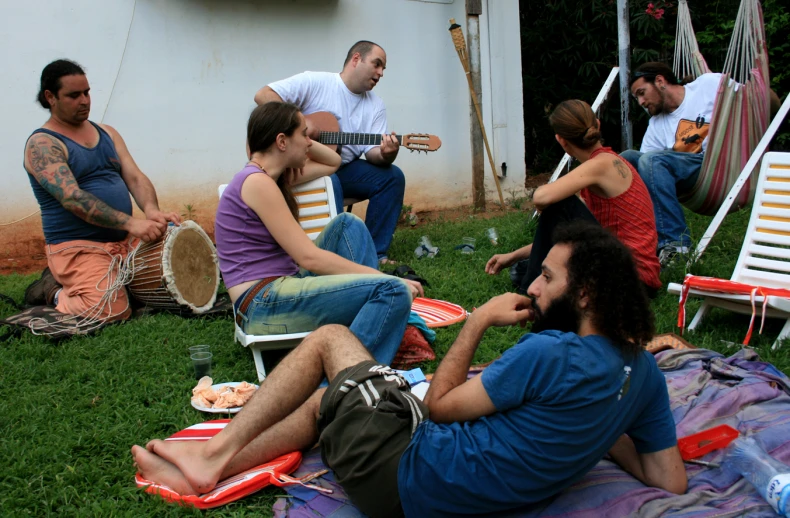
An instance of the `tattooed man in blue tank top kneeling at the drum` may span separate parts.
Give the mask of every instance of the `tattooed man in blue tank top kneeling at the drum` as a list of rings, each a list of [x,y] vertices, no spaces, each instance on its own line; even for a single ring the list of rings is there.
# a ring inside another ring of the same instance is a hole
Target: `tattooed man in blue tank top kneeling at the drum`
[[[153,184],[121,135],[88,120],[90,86],[78,64],[59,59],[44,67],[38,102],[50,118],[28,138],[24,164],[41,207],[48,268],[26,290],[25,304],[129,318],[126,290],[113,289],[117,260],[130,237],[154,241],[180,218],[159,210]],[[130,193],[145,219],[131,216]]]

